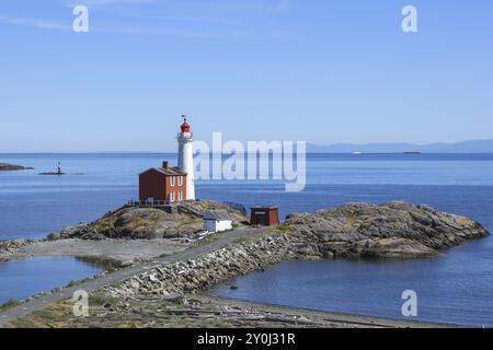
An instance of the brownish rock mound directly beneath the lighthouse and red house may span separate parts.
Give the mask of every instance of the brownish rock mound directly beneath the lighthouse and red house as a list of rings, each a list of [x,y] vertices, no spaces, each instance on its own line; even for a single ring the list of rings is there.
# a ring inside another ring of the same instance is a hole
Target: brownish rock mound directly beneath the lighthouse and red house
[[[186,205],[182,210],[167,212],[153,208],[123,208],[107,213],[90,224],[67,228],[53,233],[48,240],[82,238],[82,240],[153,240],[153,238],[194,238],[204,231],[203,215],[209,210],[225,210],[233,220],[234,225],[246,221],[244,214],[228,205],[200,200]]]

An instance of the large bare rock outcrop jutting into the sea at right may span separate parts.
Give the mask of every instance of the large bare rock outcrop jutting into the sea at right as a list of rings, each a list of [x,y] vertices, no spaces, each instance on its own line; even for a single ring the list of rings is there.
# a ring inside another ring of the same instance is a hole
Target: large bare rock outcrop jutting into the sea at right
[[[336,257],[424,257],[489,235],[468,218],[401,201],[291,214],[284,229],[305,236],[321,255]]]

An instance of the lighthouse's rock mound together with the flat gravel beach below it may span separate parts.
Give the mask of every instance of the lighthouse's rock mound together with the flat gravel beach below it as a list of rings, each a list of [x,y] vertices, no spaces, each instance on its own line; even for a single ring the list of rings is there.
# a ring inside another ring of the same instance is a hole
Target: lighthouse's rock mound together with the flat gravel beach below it
[[[236,228],[248,224],[242,211],[210,200],[197,200],[172,212],[124,206],[94,222],[66,228],[43,240],[0,242],[0,260],[76,256],[125,266],[146,261],[182,252],[200,241],[202,218],[210,210],[228,212]]]

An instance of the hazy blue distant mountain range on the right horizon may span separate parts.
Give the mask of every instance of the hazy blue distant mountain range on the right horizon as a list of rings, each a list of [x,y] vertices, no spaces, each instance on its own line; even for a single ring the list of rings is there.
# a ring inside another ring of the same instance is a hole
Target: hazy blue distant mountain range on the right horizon
[[[320,145],[308,143],[307,151],[309,153],[404,153],[404,152],[422,152],[422,153],[493,153],[493,140],[471,140],[457,143],[335,143]]]

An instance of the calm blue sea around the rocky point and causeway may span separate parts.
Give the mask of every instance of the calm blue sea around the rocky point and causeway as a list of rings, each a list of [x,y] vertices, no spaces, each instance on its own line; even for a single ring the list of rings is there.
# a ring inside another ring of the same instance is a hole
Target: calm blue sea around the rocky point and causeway
[[[137,174],[174,154],[0,154],[35,171],[0,173],[0,240],[37,238],[92,221],[137,197]],[[66,176],[39,176],[60,161]],[[285,192],[270,182],[197,182],[197,196],[277,205],[282,215],[348,201],[406,200],[471,217],[493,232],[491,154],[311,154],[307,187]],[[0,262],[0,302],[22,299],[96,267],[73,258]],[[50,266],[64,266],[56,270]],[[39,268],[42,267],[42,268]],[[35,276],[49,275],[49,282]],[[49,271],[49,272],[48,272]],[[13,278],[16,277],[16,278]],[[402,317],[401,293],[419,294],[419,319],[493,326],[493,240],[454,248],[443,258],[402,262],[286,262],[217,287],[219,295],[273,304]]]

